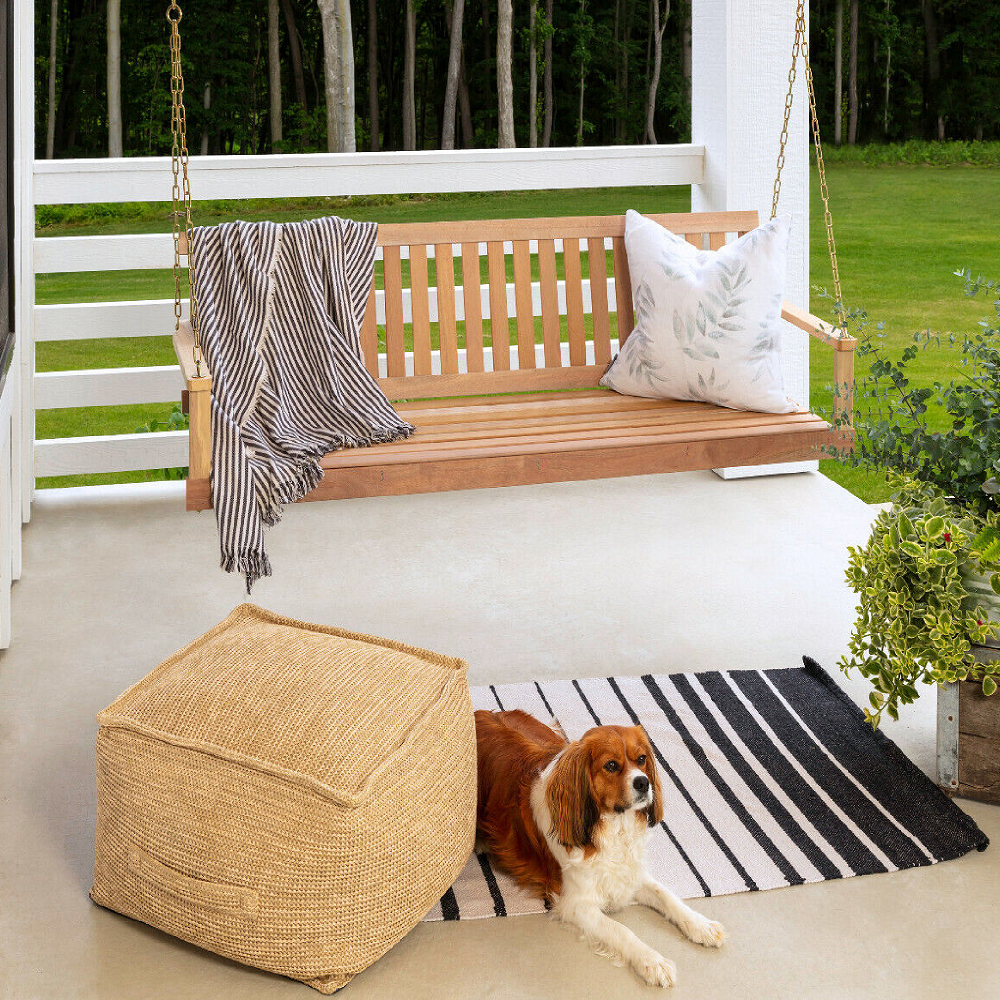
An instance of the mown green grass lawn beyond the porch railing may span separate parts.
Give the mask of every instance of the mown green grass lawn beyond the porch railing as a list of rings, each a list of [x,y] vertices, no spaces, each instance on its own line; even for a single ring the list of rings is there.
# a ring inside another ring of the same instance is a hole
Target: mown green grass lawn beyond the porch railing
[[[1000,276],[1000,168],[909,167],[831,164],[828,167],[840,272],[845,301],[862,306],[873,320],[885,323],[886,342],[897,350],[917,330],[961,332],[987,311],[987,303],[967,300],[952,272],[961,267]],[[199,224],[233,218],[292,221],[330,213],[380,222],[417,222],[446,218],[499,218],[547,215],[611,215],[626,208],[642,212],[687,211],[687,188],[542,191],[444,195],[399,199],[320,199],[285,202],[249,201],[197,206]],[[121,217],[94,221],[89,209],[48,212],[41,236],[166,232],[166,205],[125,206]],[[57,218],[62,214],[62,218]],[[433,281],[433,262],[431,279]],[[509,264],[509,262],[508,262]],[[561,268],[561,261],[559,262]],[[483,261],[483,277],[486,277]],[[826,233],[818,191],[813,191],[811,274],[815,286],[829,283]],[[584,263],[584,276],[586,276]],[[173,294],[169,270],[90,272],[40,275],[37,301],[93,302],[112,299],[168,298]],[[813,299],[820,315],[823,299]],[[613,331],[612,331],[613,334]],[[947,348],[921,355],[914,366],[920,381],[932,383],[944,374]],[[39,371],[170,364],[168,337],[62,341],[37,346]],[[829,398],[832,352],[818,344],[812,350],[813,401]],[[37,415],[40,438],[127,433],[150,420],[164,419],[170,405],[136,405],[47,410]],[[884,499],[878,476],[822,463],[833,479],[873,502]],[[113,473],[40,480],[39,486],[82,485],[158,478],[161,473]]]

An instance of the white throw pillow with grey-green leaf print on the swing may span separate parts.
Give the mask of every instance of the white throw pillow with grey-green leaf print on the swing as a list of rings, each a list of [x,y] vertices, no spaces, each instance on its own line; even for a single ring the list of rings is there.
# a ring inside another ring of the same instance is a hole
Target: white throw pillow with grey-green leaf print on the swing
[[[698,250],[638,212],[625,216],[635,329],[601,379],[629,396],[790,413],[781,374],[789,216],[720,250]]]

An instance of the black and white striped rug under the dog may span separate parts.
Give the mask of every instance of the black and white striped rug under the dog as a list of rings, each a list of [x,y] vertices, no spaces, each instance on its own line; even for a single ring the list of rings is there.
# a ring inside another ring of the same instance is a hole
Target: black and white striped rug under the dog
[[[474,688],[474,706],[591,726],[641,722],[666,819],[647,865],[686,898],[931,865],[985,850],[973,820],[814,661],[791,670],[601,677]],[[425,920],[539,913],[473,854]]]

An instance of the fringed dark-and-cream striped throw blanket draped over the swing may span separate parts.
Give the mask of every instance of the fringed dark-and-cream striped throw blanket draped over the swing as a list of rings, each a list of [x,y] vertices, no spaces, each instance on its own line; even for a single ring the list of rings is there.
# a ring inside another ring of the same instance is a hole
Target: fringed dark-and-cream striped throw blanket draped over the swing
[[[248,593],[271,574],[264,526],[319,484],[324,454],[413,433],[361,354],[377,235],[337,218],[194,230],[212,503],[222,568]]]

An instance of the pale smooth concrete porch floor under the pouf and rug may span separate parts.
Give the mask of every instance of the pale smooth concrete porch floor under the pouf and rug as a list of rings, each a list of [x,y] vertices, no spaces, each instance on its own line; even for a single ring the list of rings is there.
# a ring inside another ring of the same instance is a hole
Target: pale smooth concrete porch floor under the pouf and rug
[[[711,473],[302,504],[253,599],[465,657],[470,681],[796,666],[836,672],[845,547],[873,511],[818,474]],[[40,493],[0,659],[0,997],[299,997],[93,905],[97,711],[243,599],[180,484]],[[861,700],[856,681],[841,683]],[[933,693],[889,735],[928,773]],[[963,802],[1000,840],[1000,809]],[[1000,996],[997,847],[892,875],[699,901],[707,952],[621,915],[678,966],[675,1000]],[[423,924],[342,994],[657,995],[542,916]]]

